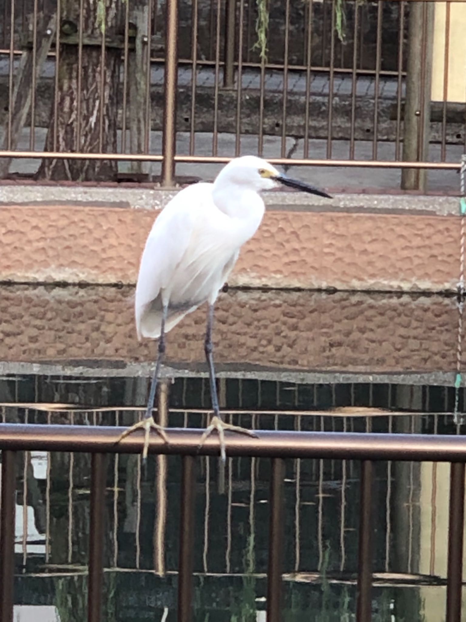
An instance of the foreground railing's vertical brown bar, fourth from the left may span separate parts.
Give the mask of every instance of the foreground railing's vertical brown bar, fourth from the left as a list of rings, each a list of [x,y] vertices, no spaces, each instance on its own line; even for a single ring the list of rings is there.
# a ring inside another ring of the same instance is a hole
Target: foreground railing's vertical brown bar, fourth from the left
[[[282,458],[273,458],[268,527],[267,622],[280,622],[281,620],[284,478],[285,462]]]

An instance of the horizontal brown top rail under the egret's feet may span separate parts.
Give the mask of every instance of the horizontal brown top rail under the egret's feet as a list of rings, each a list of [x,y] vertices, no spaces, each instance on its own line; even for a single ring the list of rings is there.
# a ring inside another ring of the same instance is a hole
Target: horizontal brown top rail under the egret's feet
[[[0,424],[0,450],[142,452],[143,434],[132,434],[117,442],[124,430],[124,427],[103,425]],[[150,451],[192,455],[198,452],[202,432],[170,429],[167,432],[170,443],[151,435]],[[466,462],[466,442],[461,435],[257,430],[257,438],[227,434],[225,443],[231,456]],[[213,436],[199,451],[199,455],[217,456],[218,453],[218,439]]]

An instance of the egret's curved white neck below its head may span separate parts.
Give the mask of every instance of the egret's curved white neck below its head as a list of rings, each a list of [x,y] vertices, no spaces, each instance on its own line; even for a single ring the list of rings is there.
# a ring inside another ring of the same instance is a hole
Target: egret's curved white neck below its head
[[[214,183],[212,198],[217,208],[230,218],[260,225],[264,213],[262,198],[255,190],[242,188],[233,183]]]

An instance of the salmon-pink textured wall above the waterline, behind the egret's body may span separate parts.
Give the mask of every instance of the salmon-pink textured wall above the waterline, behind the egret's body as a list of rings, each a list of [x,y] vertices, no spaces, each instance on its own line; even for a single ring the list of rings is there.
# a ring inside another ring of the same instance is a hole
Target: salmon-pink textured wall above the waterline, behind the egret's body
[[[151,209],[119,203],[0,205],[0,281],[134,284],[154,208],[170,193],[152,191]],[[287,195],[288,193],[282,193]],[[233,287],[337,290],[454,290],[460,277],[460,219],[427,206],[436,198],[337,197],[333,205],[288,202],[271,193],[255,237],[245,245],[231,276]],[[293,201],[296,194],[290,193]],[[82,197],[82,195],[81,195]],[[139,197],[140,200],[141,197]],[[104,200],[104,195],[102,196]],[[134,197],[133,197],[133,200]],[[350,201],[352,206],[350,207]],[[457,199],[444,199],[450,207]],[[372,208],[370,205],[372,204]],[[391,205],[391,209],[386,205]],[[421,210],[421,205],[424,208]]]

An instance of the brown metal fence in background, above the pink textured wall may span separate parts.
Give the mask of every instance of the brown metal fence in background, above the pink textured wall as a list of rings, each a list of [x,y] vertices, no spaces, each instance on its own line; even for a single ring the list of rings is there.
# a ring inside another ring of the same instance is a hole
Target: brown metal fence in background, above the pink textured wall
[[[465,97],[450,86],[464,0],[2,4],[0,177],[10,157],[81,181],[153,179],[155,162],[171,185],[177,162],[244,152],[403,169],[404,188],[423,187],[421,169],[460,169]]]

